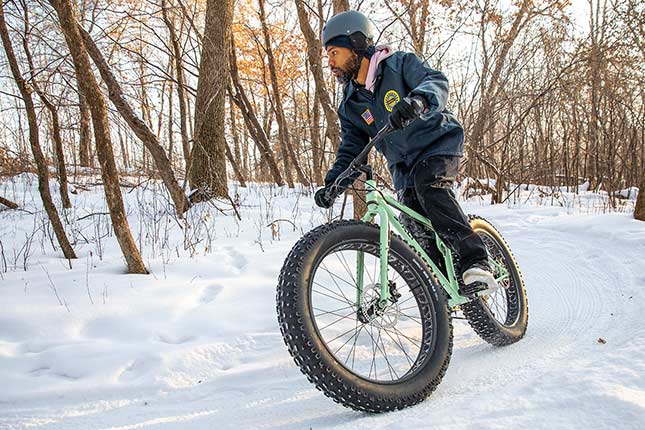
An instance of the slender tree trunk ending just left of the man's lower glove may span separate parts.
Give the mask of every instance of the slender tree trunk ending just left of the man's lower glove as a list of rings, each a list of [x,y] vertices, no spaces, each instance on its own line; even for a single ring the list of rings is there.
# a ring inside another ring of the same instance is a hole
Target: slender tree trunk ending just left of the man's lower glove
[[[273,89],[273,110],[276,115],[276,120],[278,121],[278,135],[280,138],[281,145],[286,149],[286,156],[291,159],[294,169],[296,170],[296,175],[298,176],[298,181],[305,186],[309,186],[309,180],[305,176],[300,167],[300,162],[296,157],[296,153],[293,149],[291,138],[289,136],[289,127],[287,126],[287,119],[284,115],[284,106],[282,104],[282,95],[280,94],[280,88],[278,85],[278,73],[275,66],[275,57],[273,56],[273,49],[271,48],[271,36],[269,34],[269,27],[266,23],[266,13],[264,11],[264,2],[265,0],[258,0],[260,5],[260,23],[262,24],[262,34],[264,36],[264,45],[265,52],[267,54],[267,62],[269,66],[269,75],[271,77],[271,88]],[[286,161],[286,160],[285,160]],[[285,162],[285,168],[288,166],[288,163]]]

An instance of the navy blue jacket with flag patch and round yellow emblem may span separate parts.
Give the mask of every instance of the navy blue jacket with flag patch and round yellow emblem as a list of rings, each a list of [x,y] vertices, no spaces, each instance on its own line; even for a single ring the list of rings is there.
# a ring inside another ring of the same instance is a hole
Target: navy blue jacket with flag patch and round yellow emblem
[[[425,158],[463,155],[463,128],[446,110],[448,79],[416,55],[395,52],[379,64],[373,93],[353,81],[345,86],[338,108],[342,140],[336,161],[325,177],[325,185],[334,182],[369,139],[387,124],[392,107],[402,98],[411,96],[423,97],[426,111],[376,145],[387,159],[394,187],[397,190],[413,187],[410,173],[416,163]]]

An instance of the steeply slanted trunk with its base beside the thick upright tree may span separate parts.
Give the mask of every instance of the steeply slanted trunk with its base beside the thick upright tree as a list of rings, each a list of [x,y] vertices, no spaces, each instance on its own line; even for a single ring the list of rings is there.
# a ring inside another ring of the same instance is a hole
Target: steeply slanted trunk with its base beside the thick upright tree
[[[90,37],[89,33],[81,28],[80,25],[78,26],[78,31],[83,37],[87,52],[89,52],[94,64],[96,64],[96,67],[103,78],[103,81],[108,87],[108,96],[112,101],[112,104],[114,104],[121,117],[128,123],[134,134],[137,135],[141,142],[143,142],[143,145],[150,152],[150,155],[154,159],[155,165],[159,170],[161,179],[175,204],[175,211],[179,216],[181,216],[181,214],[190,208],[190,203],[175,178],[175,173],[172,170],[172,165],[166,155],[166,151],[163,146],[161,146],[161,143],[159,143],[157,136],[152,132],[152,130],[150,130],[146,123],[137,116],[132,107],[128,104],[123,95],[123,91],[121,90],[121,86],[112,74],[110,66],[108,66],[105,58],[103,58],[103,55]],[[102,96],[101,100],[103,100]]]

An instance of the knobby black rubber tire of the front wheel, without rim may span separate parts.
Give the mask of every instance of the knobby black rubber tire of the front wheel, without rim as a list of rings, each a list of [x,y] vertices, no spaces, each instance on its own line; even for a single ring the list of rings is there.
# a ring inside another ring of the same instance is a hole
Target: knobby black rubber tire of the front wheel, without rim
[[[418,288],[432,301],[436,331],[429,351],[413,377],[389,383],[364,379],[348,370],[328,351],[311,318],[309,288],[317,259],[341,241],[379,243],[379,228],[360,221],[341,220],[307,233],[293,247],[280,272],[277,312],[280,331],[289,353],[316,388],[343,406],[366,412],[402,409],[423,401],[441,382],[452,353],[452,322],[447,300],[421,258],[398,236],[392,235],[390,252],[409,263]]]

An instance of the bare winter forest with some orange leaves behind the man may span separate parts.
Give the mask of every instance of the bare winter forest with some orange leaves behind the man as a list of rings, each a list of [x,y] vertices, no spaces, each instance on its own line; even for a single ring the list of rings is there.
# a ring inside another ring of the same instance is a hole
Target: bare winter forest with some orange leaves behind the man
[[[627,187],[645,189],[645,5],[573,6],[3,1],[0,176],[58,181],[60,198],[44,186],[41,197],[74,258],[57,205],[71,205],[68,177],[100,173],[128,267],[145,272],[119,174],[159,179],[180,217],[213,197],[234,206],[228,180],[322,183],[340,140],[342,89],[318,35],[351,8],[372,18],[379,44],[415,52],[448,76],[449,109],[466,131],[462,174],[494,179],[484,190],[492,202],[512,184],[576,190],[585,181],[618,198]],[[387,184],[382,157],[372,163]],[[645,218],[643,200],[635,215]]]

